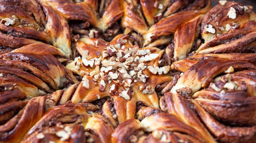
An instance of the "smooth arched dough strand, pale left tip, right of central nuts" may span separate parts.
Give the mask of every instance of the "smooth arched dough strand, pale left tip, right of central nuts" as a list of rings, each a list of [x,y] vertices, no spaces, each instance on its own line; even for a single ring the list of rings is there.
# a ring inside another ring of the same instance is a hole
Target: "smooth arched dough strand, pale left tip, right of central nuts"
[[[201,60],[191,66],[172,88],[172,93],[177,93],[180,88],[190,88],[192,93],[198,92],[202,87],[209,86],[213,78],[226,71],[230,66],[236,69],[255,69],[256,66],[242,61],[210,59]]]

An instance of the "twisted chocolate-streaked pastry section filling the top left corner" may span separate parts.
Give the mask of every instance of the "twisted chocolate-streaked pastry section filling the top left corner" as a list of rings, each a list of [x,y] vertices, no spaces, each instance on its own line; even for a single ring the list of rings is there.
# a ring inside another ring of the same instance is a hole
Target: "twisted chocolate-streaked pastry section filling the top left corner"
[[[32,43],[48,43],[71,58],[71,39],[67,21],[44,1],[2,0],[0,29],[4,38],[0,46],[20,48]],[[9,42],[9,40],[15,42]]]

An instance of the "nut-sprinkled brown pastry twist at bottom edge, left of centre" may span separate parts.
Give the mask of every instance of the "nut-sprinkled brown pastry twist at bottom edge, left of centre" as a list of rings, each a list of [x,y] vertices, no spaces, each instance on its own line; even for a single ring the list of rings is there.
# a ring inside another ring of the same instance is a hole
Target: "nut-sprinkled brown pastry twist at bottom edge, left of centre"
[[[113,126],[102,115],[87,113],[96,110],[97,107],[90,103],[66,103],[51,107],[30,129],[23,142],[109,143]]]

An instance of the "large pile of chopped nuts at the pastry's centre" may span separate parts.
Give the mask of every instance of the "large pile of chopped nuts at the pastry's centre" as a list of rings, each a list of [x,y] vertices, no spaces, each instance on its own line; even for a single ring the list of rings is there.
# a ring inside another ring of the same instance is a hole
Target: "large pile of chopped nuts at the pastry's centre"
[[[168,74],[170,66],[158,67],[155,64],[148,66],[150,62],[157,63],[160,56],[156,49],[139,49],[139,46],[125,47],[127,42],[125,36],[119,38],[116,45],[110,45],[101,51],[98,58],[87,58],[90,51],[83,51],[82,57],[76,57],[74,61],[75,69],[78,71],[81,66],[86,67],[80,70],[84,74],[81,81],[82,86],[90,88],[92,79],[95,85],[99,85],[99,91],[109,90],[109,94],[119,95],[130,100],[134,94],[132,87],[139,82],[139,90],[143,94],[153,94],[154,87],[147,84],[150,75]],[[145,72],[147,74],[145,74]],[[108,86],[109,85],[109,86]],[[108,87],[108,88],[106,88]]]

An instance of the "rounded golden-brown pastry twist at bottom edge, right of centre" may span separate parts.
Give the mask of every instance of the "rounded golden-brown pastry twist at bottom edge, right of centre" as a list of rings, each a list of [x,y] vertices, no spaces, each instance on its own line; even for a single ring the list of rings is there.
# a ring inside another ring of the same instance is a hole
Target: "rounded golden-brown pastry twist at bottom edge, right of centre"
[[[148,132],[150,134],[145,134]],[[172,114],[159,113],[143,119],[127,120],[120,124],[112,134],[112,142],[174,142],[177,140],[200,143],[199,132],[182,123]]]

